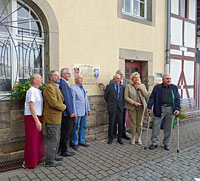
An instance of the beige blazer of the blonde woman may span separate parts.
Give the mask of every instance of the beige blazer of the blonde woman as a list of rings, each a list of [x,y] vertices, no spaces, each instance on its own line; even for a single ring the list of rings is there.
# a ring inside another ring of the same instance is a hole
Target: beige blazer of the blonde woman
[[[148,100],[148,92],[146,90],[146,87],[144,84],[140,84],[143,88],[143,90],[139,90],[139,97],[142,101],[142,104],[144,106],[144,109],[147,107],[147,100]],[[128,110],[135,110],[134,102],[136,102],[137,99],[137,94],[136,94],[136,89],[133,85],[133,83],[130,81],[130,83],[126,86],[125,88],[125,100],[126,100],[126,108]]]

